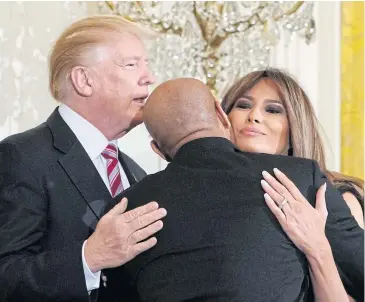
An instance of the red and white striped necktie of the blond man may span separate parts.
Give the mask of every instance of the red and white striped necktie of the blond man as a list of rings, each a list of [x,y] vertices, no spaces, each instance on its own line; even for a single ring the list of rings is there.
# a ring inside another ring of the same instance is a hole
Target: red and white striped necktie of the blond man
[[[108,144],[101,155],[106,159],[106,170],[110,184],[110,191],[112,197],[115,197],[124,190],[118,165],[118,149],[114,144]]]

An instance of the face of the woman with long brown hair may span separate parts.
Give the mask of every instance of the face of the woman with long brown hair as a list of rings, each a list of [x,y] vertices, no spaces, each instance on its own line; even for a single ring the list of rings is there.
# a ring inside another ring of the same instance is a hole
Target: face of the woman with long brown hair
[[[288,154],[289,121],[273,80],[260,80],[236,101],[228,117],[242,151]]]

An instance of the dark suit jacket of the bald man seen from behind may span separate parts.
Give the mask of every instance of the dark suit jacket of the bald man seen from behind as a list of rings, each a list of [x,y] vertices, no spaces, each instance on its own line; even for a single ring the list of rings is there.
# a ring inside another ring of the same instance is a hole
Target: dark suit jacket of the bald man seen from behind
[[[157,245],[124,266],[141,300],[304,300],[308,263],[265,204],[260,185],[261,172],[275,167],[315,203],[325,177],[314,161],[240,152],[223,138],[187,143],[166,170],[126,190],[130,208],[156,200],[167,209]],[[326,197],[334,257],[348,292],[361,300],[363,231],[330,184]]]

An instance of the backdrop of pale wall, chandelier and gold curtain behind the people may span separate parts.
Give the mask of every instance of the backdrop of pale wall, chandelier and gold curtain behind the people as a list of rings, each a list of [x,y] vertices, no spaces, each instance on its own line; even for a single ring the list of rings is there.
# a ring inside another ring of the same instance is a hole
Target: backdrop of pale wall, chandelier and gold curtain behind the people
[[[328,168],[364,179],[364,2],[0,2],[0,140],[47,119],[57,106],[48,91],[52,43],[99,13],[159,33],[148,44],[156,84],[192,76],[219,98],[252,70],[286,69],[313,103]],[[149,141],[139,126],[119,145],[154,173],[166,163]]]

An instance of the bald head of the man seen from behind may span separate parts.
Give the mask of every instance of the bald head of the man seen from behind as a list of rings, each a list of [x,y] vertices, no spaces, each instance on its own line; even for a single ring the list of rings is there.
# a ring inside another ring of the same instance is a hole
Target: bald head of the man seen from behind
[[[215,98],[199,80],[180,78],[159,85],[143,110],[147,130],[171,154],[184,138],[218,126]]]

